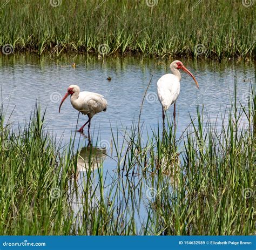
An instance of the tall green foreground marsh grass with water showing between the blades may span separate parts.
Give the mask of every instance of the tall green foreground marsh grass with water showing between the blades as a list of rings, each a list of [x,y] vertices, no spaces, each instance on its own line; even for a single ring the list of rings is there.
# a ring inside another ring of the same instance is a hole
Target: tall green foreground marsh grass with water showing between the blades
[[[249,96],[254,97],[253,89]],[[181,138],[172,123],[164,138],[159,124],[147,141],[136,125],[123,138],[113,130],[113,173],[103,171],[111,150],[96,148],[97,138],[95,147],[77,151],[73,139],[63,147],[44,127],[37,107],[17,130],[2,119],[0,233],[252,234],[252,99],[243,106],[234,91],[220,127],[198,108],[197,120],[191,119]],[[84,172],[78,172],[81,165]]]

